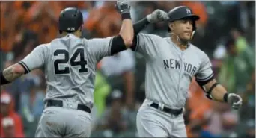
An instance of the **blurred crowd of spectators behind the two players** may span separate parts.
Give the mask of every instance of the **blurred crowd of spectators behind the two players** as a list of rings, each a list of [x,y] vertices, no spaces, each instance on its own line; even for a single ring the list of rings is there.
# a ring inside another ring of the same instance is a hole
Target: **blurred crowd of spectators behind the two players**
[[[121,17],[115,1],[1,1],[1,69],[21,60],[41,43],[58,36],[58,14],[79,7],[83,37],[118,34]],[[255,1],[133,1],[132,21],[156,9],[186,5],[201,19],[192,43],[210,57],[216,79],[243,97],[243,107],[210,101],[195,80],[189,88],[184,119],[189,137],[255,137]],[[168,36],[167,23],[141,33]],[[135,117],[144,100],[145,62],[130,50],[105,57],[97,65],[91,137],[137,137]],[[43,112],[43,72],[1,87],[1,136],[34,137]]]

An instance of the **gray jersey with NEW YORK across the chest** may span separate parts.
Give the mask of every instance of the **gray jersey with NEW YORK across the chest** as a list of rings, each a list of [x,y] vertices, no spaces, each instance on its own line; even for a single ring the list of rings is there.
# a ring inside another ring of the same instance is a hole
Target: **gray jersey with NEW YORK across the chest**
[[[209,57],[192,44],[182,51],[170,37],[138,34],[133,50],[146,60],[146,98],[168,107],[185,105],[192,76],[198,81],[213,77]]]

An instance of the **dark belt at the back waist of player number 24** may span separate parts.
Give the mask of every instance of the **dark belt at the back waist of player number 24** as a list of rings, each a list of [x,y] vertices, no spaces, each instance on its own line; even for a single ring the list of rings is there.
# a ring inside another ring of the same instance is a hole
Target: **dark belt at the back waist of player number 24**
[[[62,101],[59,101],[59,100],[49,100],[49,101],[46,101],[47,104],[46,106],[47,107],[63,107],[63,102]],[[91,109],[85,105],[82,105],[82,104],[78,104],[77,105],[77,110],[82,110],[82,111],[85,111],[87,113],[91,113]]]

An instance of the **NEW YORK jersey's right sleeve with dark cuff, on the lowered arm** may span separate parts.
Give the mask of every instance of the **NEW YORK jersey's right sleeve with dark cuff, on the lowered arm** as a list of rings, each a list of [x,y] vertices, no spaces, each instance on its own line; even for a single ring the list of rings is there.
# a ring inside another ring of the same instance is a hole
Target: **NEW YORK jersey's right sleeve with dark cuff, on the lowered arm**
[[[195,75],[196,81],[199,85],[204,86],[209,81],[213,80],[213,69],[210,59],[207,54],[202,54],[201,64],[198,73]]]

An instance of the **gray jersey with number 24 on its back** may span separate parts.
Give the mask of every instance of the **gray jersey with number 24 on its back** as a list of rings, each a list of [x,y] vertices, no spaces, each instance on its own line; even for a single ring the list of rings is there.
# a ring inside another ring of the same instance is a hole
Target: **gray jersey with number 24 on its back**
[[[42,69],[47,83],[46,98],[78,102],[93,107],[97,62],[110,55],[112,37],[81,39],[67,34],[34,48],[19,63],[26,72]]]

